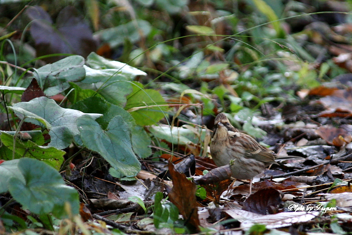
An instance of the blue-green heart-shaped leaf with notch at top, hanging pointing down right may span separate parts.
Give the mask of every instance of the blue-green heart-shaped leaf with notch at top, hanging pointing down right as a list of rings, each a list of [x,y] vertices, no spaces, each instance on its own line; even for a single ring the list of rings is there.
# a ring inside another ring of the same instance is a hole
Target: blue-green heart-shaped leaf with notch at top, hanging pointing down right
[[[114,117],[103,130],[92,117],[84,115],[78,118],[77,127],[84,145],[99,152],[121,177],[132,177],[140,171],[129,127],[121,116]]]

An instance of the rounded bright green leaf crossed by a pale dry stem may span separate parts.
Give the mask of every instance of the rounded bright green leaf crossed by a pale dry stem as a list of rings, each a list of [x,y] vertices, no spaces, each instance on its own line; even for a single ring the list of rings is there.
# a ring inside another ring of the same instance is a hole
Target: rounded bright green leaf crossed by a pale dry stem
[[[127,96],[125,109],[131,113],[140,126],[153,125],[165,116],[167,107],[158,91],[143,89],[141,84],[135,84],[133,92]],[[150,107],[151,106],[151,107]]]

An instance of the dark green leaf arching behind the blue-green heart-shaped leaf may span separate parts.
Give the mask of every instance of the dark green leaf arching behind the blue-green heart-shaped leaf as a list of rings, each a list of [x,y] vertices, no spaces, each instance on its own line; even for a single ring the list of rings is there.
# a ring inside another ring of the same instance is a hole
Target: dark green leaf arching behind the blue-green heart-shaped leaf
[[[143,127],[136,125],[136,122],[131,114],[126,112],[123,108],[110,104],[102,98],[90,97],[77,102],[72,106],[72,109],[77,109],[83,113],[103,114],[102,117],[96,119],[103,129],[107,128],[111,119],[117,115],[120,115],[131,130],[132,148],[134,153],[136,153],[140,158],[147,158],[151,154],[151,148],[148,147],[151,143],[150,137],[145,132]]]

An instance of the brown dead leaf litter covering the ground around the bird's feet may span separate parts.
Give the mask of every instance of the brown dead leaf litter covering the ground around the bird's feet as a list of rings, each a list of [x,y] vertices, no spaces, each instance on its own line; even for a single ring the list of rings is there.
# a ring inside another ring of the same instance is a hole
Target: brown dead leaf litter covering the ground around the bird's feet
[[[138,203],[130,200],[130,197],[137,196],[146,205],[152,205],[156,192],[169,196],[183,217],[183,226],[192,233],[197,232],[199,225],[236,233],[251,229],[256,223],[265,224],[267,229],[280,229],[282,233],[292,229],[314,231],[324,224],[333,224],[327,231],[334,232],[339,228],[349,231],[352,218],[349,215],[352,206],[352,125],[348,120],[341,120],[343,124],[336,127],[339,113],[331,123],[331,119],[324,117],[325,109],[305,103],[302,102],[299,113],[291,114],[295,120],[287,118],[280,129],[266,125],[266,119],[259,117],[264,123],[261,128],[268,132],[267,137],[262,138],[263,143],[276,142],[273,147],[277,152],[283,154],[286,151],[290,155],[302,156],[304,160],[286,161],[266,170],[254,179],[253,194],[247,198],[247,181],[236,181],[233,189],[228,191],[232,182],[230,171],[226,167],[216,168],[211,159],[184,155],[187,147],[183,144],[174,145],[180,150],[173,155],[164,153],[158,161],[142,161],[143,170],[133,181],[117,182],[95,157],[84,161],[77,159],[76,168],[66,179],[80,188],[84,197],[96,198],[87,205],[93,215],[99,215],[103,210],[105,213],[127,213],[115,223],[111,220],[110,225],[128,233],[139,230],[162,233],[170,229],[170,224],[175,226],[175,221],[167,220],[168,215],[164,214],[164,224],[168,225],[155,228],[152,220],[147,221],[152,212],[150,208],[146,207],[146,214]],[[270,109],[270,106],[265,108]],[[334,114],[331,112],[330,115]],[[314,121],[317,118],[322,125]],[[311,122],[304,124],[302,119]],[[172,161],[174,167],[167,167],[167,161]],[[211,172],[202,178],[204,170]],[[196,183],[186,176],[193,177]],[[199,190],[202,188],[204,190]]]

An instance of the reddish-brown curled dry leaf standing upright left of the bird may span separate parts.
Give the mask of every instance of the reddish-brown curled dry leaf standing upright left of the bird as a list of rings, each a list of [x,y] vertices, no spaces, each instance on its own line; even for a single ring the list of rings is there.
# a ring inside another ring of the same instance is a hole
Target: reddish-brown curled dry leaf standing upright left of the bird
[[[175,171],[168,162],[168,169],[172,178],[173,187],[168,194],[170,201],[177,206],[186,221],[199,230],[198,208],[196,200],[196,184],[186,178],[184,174]]]

